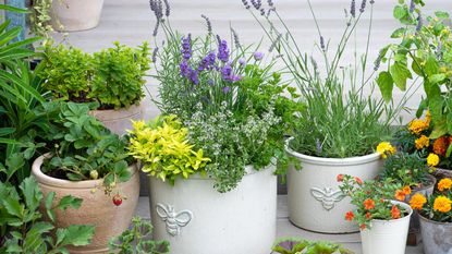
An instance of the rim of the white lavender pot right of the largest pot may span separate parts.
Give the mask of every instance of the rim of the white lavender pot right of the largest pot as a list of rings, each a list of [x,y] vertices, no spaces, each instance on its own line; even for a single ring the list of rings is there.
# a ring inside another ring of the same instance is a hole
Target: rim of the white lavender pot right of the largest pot
[[[302,161],[314,164],[314,165],[330,165],[330,166],[352,166],[352,165],[362,165],[370,161],[376,161],[381,158],[379,153],[372,153],[364,156],[354,156],[347,158],[325,158],[325,157],[315,157],[309,155],[300,154],[292,148],[290,148],[289,143],[293,140],[290,137],[285,141],[285,152],[293,157],[301,159]]]

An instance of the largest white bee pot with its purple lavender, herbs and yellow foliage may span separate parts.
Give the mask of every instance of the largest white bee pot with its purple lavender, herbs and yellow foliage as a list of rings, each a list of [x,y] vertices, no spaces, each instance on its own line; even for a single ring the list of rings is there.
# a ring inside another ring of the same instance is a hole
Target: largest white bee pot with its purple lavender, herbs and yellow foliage
[[[155,76],[163,117],[135,123],[130,149],[151,176],[154,235],[168,239],[172,253],[267,253],[274,172],[289,162],[283,137],[300,106],[284,97],[289,87],[261,52],[211,29],[181,35],[162,19],[169,10],[150,3],[166,34]]]

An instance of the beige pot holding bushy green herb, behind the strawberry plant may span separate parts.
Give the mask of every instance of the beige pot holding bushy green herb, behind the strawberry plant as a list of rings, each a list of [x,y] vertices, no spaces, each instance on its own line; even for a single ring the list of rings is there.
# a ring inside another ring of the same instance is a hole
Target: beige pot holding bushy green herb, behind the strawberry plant
[[[132,130],[132,121],[142,120],[143,106],[132,105],[123,109],[91,110],[89,114],[97,118],[111,132],[123,135]]]

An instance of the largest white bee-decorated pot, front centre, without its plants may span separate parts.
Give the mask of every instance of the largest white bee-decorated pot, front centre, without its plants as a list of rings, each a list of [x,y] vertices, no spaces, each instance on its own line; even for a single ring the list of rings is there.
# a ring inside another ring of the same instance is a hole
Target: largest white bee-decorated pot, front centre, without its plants
[[[228,193],[192,176],[174,186],[150,178],[154,238],[168,240],[171,254],[269,254],[277,229],[274,167],[247,167]]]

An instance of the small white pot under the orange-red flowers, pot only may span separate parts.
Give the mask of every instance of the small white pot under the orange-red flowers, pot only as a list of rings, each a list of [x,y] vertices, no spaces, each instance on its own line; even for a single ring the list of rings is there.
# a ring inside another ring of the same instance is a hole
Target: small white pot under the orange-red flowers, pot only
[[[413,209],[405,203],[392,201],[408,211],[403,218],[372,220],[371,229],[361,230],[363,254],[405,254],[410,218]]]

